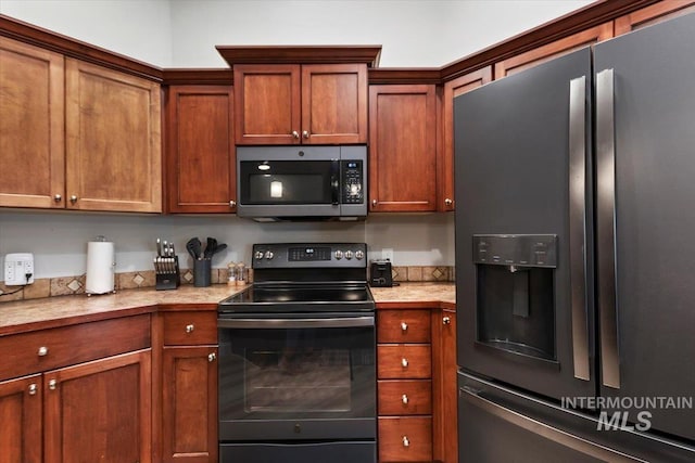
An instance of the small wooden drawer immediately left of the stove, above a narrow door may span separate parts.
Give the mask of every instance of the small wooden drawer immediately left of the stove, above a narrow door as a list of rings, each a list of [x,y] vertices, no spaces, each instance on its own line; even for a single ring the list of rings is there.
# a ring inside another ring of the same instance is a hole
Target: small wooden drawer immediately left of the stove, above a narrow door
[[[217,312],[206,310],[164,313],[164,344],[167,346],[217,344]]]

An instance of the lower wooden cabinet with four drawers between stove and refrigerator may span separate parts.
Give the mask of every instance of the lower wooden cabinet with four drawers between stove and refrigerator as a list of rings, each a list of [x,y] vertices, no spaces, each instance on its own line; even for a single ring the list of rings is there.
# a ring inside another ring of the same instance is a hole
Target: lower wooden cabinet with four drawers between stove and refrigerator
[[[377,305],[379,462],[456,463],[455,309],[396,306]]]

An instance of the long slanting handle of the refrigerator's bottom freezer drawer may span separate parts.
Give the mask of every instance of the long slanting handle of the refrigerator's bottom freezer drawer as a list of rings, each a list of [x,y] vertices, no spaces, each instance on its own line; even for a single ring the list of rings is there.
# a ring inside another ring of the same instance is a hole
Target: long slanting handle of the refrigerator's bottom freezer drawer
[[[602,461],[616,463],[647,463],[646,460],[630,456],[626,453],[618,452],[617,450],[612,450],[590,440],[583,439],[579,436],[574,436],[563,429],[551,426],[547,423],[543,423],[541,421],[526,416],[519,412],[510,410],[500,403],[482,397],[479,393],[479,390],[473,389],[469,386],[464,386],[458,389],[458,394],[464,400],[468,400],[473,406],[482,409],[485,413],[492,414],[530,433],[542,436],[545,439],[557,442],[568,449],[572,449],[577,452]]]

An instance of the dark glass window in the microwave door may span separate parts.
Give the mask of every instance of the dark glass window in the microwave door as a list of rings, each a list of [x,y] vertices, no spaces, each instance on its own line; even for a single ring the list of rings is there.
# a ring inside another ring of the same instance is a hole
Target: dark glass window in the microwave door
[[[331,204],[337,160],[242,162],[242,204]]]

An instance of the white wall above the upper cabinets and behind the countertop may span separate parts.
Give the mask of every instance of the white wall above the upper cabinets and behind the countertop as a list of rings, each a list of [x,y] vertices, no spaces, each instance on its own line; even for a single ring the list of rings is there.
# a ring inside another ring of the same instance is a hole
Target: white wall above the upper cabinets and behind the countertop
[[[162,67],[223,67],[215,44],[382,44],[382,67],[441,66],[589,3],[586,0],[1,0],[0,13]],[[454,215],[372,215],[359,223],[255,223],[236,217],[0,209],[0,265],[35,253],[36,278],[81,274],[87,242],[116,243],[116,270],[152,268],[156,237],[179,256],[191,236],[230,245],[215,267],[250,261],[261,242],[356,241],[394,263],[454,265]],[[188,258],[182,267],[190,267]],[[0,279],[3,275],[0,274]]]

